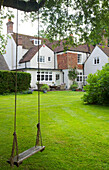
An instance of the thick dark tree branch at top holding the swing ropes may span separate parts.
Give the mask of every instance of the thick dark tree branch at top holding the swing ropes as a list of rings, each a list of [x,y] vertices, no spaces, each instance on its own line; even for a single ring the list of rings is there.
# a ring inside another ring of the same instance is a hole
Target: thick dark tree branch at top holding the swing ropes
[[[0,4],[1,4],[0,0]],[[46,0],[42,0],[39,4],[35,0],[30,0],[30,1],[21,1],[21,0],[4,0],[3,6],[6,7],[11,7],[11,8],[16,8],[21,11],[25,12],[36,12],[38,9],[44,6]]]

